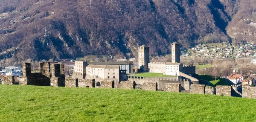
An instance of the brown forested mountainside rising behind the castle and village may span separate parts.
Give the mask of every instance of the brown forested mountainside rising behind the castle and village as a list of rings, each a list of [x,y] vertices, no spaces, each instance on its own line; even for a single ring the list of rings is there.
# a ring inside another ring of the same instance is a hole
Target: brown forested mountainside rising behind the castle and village
[[[91,1],[91,2],[90,2]],[[1,0],[0,59],[152,56],[170,44],[254,41],[256,0]]]

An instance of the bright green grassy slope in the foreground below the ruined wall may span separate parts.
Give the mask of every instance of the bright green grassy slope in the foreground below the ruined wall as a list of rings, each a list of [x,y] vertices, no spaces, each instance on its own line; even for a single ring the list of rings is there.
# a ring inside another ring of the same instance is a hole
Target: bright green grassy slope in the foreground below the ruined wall
[[[251,122],[256,114],[256,99],[214,95],[18,85],[0,85],[0,92],[4,122]]]

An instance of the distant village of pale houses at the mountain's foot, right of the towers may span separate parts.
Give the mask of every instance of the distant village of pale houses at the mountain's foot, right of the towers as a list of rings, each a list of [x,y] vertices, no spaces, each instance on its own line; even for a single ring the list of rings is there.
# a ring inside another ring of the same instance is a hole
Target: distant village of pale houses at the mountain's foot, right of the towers
[[[181,49],[181,56],[202,58],[248,58],[256,57],[256,44],[234,46],[228,43],[199,44],[191,49]]]

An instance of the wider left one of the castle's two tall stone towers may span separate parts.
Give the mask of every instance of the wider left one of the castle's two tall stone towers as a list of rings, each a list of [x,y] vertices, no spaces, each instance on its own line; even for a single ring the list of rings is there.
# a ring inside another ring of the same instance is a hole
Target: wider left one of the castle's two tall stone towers
[[[139,68],[141,72],[149,72],[148,63],[149,63],[149,47],[142,45],[139,47]]]

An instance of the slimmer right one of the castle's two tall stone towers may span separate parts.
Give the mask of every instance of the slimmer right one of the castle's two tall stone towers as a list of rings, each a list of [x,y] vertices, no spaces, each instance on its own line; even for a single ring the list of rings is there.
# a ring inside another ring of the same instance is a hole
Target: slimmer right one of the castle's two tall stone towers
[[[172,63],[180,63],[180,44],[172,43]]]

